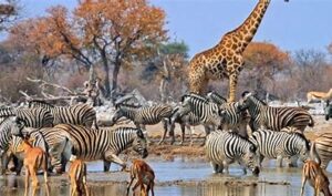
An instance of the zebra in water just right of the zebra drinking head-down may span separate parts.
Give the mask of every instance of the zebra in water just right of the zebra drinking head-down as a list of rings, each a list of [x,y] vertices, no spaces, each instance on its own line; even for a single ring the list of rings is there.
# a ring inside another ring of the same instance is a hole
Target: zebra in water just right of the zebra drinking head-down
[[[258,148],[259,164],[264,157],[277,158],[277,166],[282,167],[282,158],[290,159],[288,166],[297,167],[298,158],[307,161],[309,157],[309,141],[299,133],[289,133],[288,127],[281,132],[259,128],[249,138]]]

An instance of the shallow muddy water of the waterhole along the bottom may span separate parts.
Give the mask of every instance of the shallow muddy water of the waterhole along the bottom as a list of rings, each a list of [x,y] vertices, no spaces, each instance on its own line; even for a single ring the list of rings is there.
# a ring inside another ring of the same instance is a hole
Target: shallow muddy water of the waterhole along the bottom
[[[204,162],[175,159],[174,162],[148,162],[156,172],[156,196],[299,196],[301,186],[300,168],[276,168],[274,162],[263,163],[259,177],[249,173],[242,175],[239,166],[230,167],[230,175],[214,175],[209,164]],[[125,195],[126,173],[102,173],[102,163],[89,164],[89,186],[91,195]],[[113,171],[118,169],[112,166]],[[328,171],[331,171],[328,168]],[[41,182],[42,176],[39,176]],[[329,176],[331,179],[331,176]],[[21,196],[24,194],[23,177],[13,175],[0,177],[0,196]],[[70,195],[65,175],[50,177],[51,195]],[[41,184],[38,195],[45,195]],[[307,186],[305,196],[313,195]]]

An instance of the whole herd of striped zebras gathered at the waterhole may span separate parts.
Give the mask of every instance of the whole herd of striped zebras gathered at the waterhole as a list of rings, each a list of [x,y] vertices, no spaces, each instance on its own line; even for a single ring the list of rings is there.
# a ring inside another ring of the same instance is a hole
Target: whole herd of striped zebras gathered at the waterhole
[[[314,122],[303,107],[272,107],[253,93],[245,92],[238,102],[228,103],[216,92],[206,96],[188,93],[181,96],[176,106],[157,104],[135,106],[117,104],[111,128],[97,126],[96,112],[87,104],[54,106],[44,102],[30,102],[23,107],[0,107],[0,155],[2,174],[12,158],[21,171],[23,159],[20,151],[22,137],[33,137],[33,145],[42,147],[49,154],[49,169],[65,172],[69,161],[104,161],[104,171],[111,163],[123,168],[126,163],[118,155],[133,147],[143,158],[148,155],[148,140],[145,125],[163,122],[164,134],[175,142],[175,123],[181,128],[181,142],[185,128],[203,125],[206,132],[204,141],[206,155],[215,173],[228,172],[228,165],[239,163],[259,174],[264,157],[277,158],[277,165],[287,159],[289,166],[302,161],[318,159],[326,168],[332,159],[332,133],[309,142],[303,135],[307,126]],[[122,117],[131,120],[136,127],[113,127]]]

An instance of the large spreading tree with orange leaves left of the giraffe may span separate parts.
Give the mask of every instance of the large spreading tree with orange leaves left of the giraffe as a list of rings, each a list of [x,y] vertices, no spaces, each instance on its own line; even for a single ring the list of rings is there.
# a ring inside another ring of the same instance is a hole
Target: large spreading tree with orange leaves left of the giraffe
[[[11,39],[34,48],[43,63],[71,59],[86,69],[102,65],[103,94],[108,97],[117,89],[122,65],[149,55],[166,40],[165,13],[146,0],[80,2],[71,13],[58,6],[46,17],[23,21],[12,28]]]

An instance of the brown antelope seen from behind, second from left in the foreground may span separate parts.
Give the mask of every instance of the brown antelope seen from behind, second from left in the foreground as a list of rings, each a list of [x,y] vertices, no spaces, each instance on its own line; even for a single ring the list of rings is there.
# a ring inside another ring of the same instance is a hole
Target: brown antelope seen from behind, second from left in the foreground
[[[75,194],[89,196],[86,185],[86,165],[82,159],[74,159],[69,169],[69,178],[71,180],[71,196]]]

